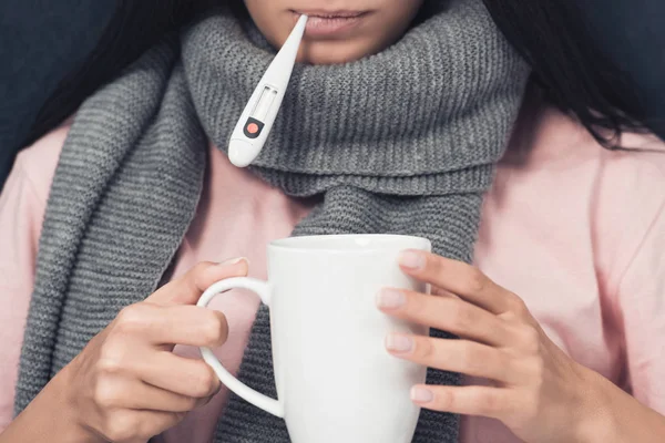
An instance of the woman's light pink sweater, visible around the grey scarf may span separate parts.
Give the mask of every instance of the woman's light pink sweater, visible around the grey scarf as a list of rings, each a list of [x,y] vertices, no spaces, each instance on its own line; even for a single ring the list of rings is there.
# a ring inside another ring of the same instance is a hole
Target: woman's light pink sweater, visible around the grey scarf
[[[20,154],[0,198],[0,431],[11,420],[17,367],[50,183],[68,127]],[[627,146],[663,151],[653,138]],[[611,153],[553,110],[512,143],[485,200],[477,265],[520,295],[567,354],[665,413],[665,154]],[[234,168],[211,147],[197,216],[174,276],[201,260],[246,256],[265,277],[265,246],[309,208]],[[231,323],[217,351],[237,371],[258,300],[216,300]],[[197,356],[194,349],[176,352]],[[467,383],[482,382],[467,380]],[[208,442],[227,391],[165,432],[162,442]],[[518,442],[501,423],[462,420],[467,442]]]

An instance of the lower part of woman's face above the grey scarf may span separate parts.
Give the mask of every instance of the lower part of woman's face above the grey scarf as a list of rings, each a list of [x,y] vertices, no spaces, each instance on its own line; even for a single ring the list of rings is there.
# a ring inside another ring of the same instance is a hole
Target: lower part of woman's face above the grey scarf
[[[382,51],[407,30],[423,0],[245,0],[254,22],[282,48],[300,14],[308,14],[298,61],[350,62]]]

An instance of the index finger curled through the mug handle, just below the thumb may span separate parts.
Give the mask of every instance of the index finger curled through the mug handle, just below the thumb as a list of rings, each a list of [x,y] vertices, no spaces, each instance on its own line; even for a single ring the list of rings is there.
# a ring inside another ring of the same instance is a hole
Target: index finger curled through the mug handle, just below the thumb
[[[114,331],[150,344],[216,348],[226,342],[228,323],[224,313],[213,309],[141,302],[120,312]]]

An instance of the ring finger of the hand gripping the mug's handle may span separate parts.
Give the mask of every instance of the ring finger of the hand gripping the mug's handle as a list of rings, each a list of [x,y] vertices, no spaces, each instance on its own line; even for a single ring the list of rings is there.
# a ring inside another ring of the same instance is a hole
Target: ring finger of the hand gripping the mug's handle
[[[100,383],[94,394],[95,403],[105,409],[188,412],[207,401],[206,398],[182,395],[124,377],[110,378]]]

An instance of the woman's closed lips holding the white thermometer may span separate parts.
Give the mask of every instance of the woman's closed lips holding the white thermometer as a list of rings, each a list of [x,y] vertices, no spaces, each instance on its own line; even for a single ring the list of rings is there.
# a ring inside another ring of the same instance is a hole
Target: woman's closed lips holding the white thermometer
[[[339,38],[358,27],[369,11],[291,10],[294,20],[309,17],[305,35],[309,38]]]

